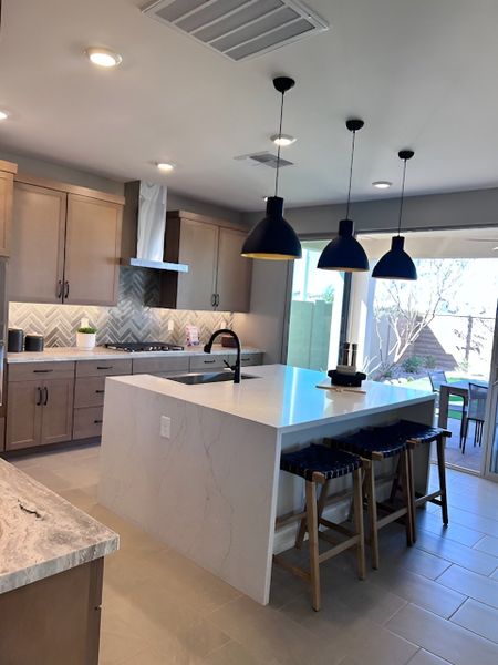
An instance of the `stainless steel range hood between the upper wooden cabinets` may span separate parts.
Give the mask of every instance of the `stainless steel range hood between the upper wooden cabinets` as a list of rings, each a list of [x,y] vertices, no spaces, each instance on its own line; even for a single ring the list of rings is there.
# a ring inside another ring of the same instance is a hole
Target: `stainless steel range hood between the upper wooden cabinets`
[[[122,265],[188,273],[186,264],[163,260],[166,198],[165,185],[143,181],[125,184]]]

